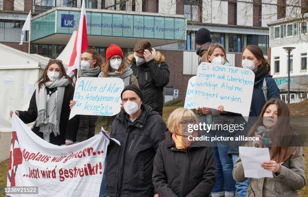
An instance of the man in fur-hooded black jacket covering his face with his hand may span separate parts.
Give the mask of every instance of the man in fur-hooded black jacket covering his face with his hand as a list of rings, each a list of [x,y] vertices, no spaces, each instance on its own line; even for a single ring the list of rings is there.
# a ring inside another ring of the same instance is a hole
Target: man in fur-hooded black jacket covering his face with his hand
[[[127,57],[133,74],[144,95],[144,104],[163,115],[163,89],[169,83],[169,68],[165,56],[152,48],[148,40],[135,44],[134,54]]]

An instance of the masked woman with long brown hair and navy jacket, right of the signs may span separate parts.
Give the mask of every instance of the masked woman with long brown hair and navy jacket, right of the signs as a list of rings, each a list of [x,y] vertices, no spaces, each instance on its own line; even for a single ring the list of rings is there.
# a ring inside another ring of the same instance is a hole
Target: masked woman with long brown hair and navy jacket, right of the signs
[[[243,68],[252,70],[255,73],[255,83],[250,105],[249,121],[246,124],[246,132],[248,132],[251,126],[257,121],[266,101],[272,98],[280,99],[280,95],[274,79],[271,75],[269,75],[271,70],[270,64],[264,58],[260,47],[256,45],[248,45],[243,49],[242,66]],[[244,122],[243,120],[240,121],[241,123]],[[236,137],[238,134],[234,135]],[[235,146],[230,146],[228,150],[228,154],[232,155],[234,165],[239,158],[239,146],[242,146],[242,142],[235,143]],[[248,184],[248,179],[244,182],[237,182],[237,195],[239,197],[247,195]]]

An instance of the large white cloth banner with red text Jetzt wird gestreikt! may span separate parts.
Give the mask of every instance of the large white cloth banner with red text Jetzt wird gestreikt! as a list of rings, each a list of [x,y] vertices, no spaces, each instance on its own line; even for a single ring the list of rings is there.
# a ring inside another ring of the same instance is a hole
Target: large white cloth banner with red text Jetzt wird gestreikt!
[[[16,114],[12,128],[7,186],[37,186],[38,194],[8,196],[99,196],[109,138],[101,133],[56,146],[35,135]]]

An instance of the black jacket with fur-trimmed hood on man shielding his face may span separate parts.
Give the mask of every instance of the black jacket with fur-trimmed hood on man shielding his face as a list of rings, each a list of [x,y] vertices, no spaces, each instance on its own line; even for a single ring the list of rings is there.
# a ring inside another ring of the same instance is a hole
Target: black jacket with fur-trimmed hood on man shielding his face
[[[163,89],[169,83],[169,68],[165,56],[156,51],[156,58],[141,65],[136,64],[133,55],[127,57],[133,75],[138,79],[139,88],[144,96],[144,104],[163,115]]]

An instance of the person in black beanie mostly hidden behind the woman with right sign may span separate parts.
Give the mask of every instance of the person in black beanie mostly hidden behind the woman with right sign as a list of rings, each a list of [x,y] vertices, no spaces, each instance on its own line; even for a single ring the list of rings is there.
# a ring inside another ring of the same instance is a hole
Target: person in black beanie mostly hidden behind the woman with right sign
[[[201,28],[196,32],[196,46],[198,48],[196,53],[199,56],[199,64],[201,62],[206,62],[207,50],[211,43],[211,32],[208,29]]]

